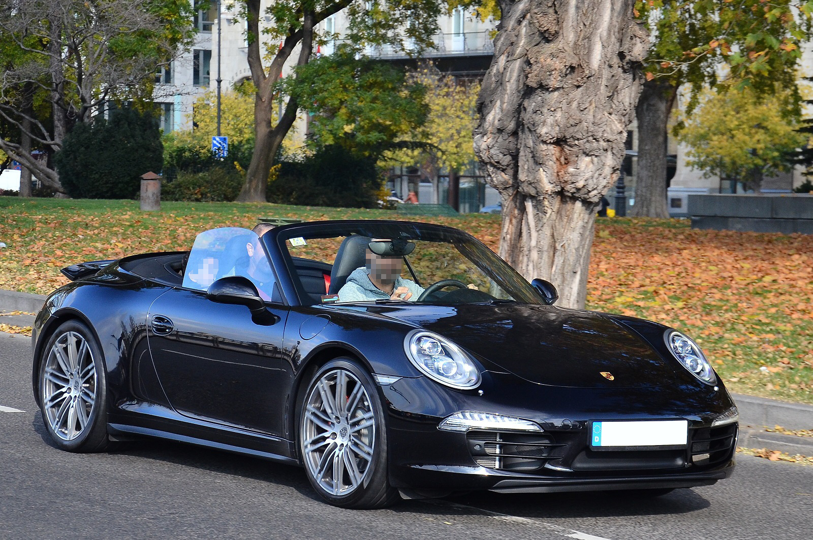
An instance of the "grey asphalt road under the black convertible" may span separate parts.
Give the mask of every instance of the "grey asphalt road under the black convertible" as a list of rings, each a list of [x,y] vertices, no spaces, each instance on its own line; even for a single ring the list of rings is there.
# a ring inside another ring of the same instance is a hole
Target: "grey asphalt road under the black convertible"
[[[77,455],[47,439],[30,387],[30,339],[0,333],[0,539],[811,538],[813,467],[738,458],[728,481],[658,499],[613,493],[404,501],[348,511],[302,469],[146,440]],[[14,412],[19,410],[22,412]]]

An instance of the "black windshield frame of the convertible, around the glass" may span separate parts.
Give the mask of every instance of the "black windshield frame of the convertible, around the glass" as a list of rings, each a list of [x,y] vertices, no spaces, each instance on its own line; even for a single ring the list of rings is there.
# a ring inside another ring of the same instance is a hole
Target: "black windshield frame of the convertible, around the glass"
[[[424,233],[424,238],[421,237],[422,235],[420,233]],[[302,289],[299,280],[296,278],[296,269],[293,265],[293,259],[285,242],[292,238],[298,237],[311,239],[337,238],[349,236],[351,234],[371,236],[374,238],[402,237],[408,240],[426,240],[425,236],[430,236],[433,238],[433,241],[463,240],[469,242],[471,243],[469,245],[472,246],[472,249],[478,256],[482,257],[483,261],[490,261],[492,265],[498,266],[500,270],[498,270],[498,272],[489,272],[488,269],[485,269],[480,265],[476,266],[484,274],[504,274],[506,279],[495,279],[495,281],[497,281],[498,285],[506,291],[514,290],[516,292],[520,292],[521,294],[515,296],[517,303],[530,305],[541,305],[544,303],[536,289],[533,288],[530,283],[528,283],[528,280],[524,279],[522,275],[511,267],[511,265],[509,265],[506,261],[503,261],[502,258],[498,257],[498,255],[489,249],[488,246],[480,242],[480,240],[477,240],[474,236],[470,235],[466,231],[461,231],[460,229],[456,229],[454,227],[436,225],[434,223],[388,219],[355,219],[294,223],[292,225],[275,227],[260,237],[260,240],[267,244],[267,252],[272,256],[272,265],[276,266],[280,270],[285,269],[284,272],[278,271],[277,277],[281,278],[282,274],[285,274],[285,279],[280,279],[280,286],[283,288],[283,292],[289,299],[290,304],[307,306],[317,305],[312,303],[311,297]],[[467,253],[464,253],[462,250],[460,250],[460,252],[464,257],[468,257]],[[359,302],[359,304],[363,303],[364,302]]]

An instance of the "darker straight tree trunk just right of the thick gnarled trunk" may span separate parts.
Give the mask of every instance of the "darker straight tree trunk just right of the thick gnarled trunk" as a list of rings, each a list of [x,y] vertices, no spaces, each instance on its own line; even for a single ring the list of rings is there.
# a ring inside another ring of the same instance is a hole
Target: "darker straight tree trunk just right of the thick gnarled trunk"
[[[635,205],[630,215],[668,218],[666,205],[666,158],[669,114],[677,87],[666,82],[644,83],[635,114],[638,119],[638,172]]]

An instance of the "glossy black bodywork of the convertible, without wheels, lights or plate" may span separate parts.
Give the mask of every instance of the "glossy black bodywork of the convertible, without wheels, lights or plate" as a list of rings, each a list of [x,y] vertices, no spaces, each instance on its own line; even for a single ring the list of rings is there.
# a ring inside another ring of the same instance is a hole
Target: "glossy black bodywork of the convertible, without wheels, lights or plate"
[[[276,315],[269,326],[254,324],[245,306],[182,287],[183,252],[77,266],[78,280],[52,293],[34,323],[34,394],[50,332],[79,318],[105,356],[113,438],[152,435],[301,463],[302,381],[320,363],[352,356],[394,381],[378,390],[388,413],[390,482],[399,488],[684,487],[733,471],[737,423],[712,427],[733,400],[723,382],[702,382],[677,363],[663,340],[666,326],[541,304],[304,305],[290,275],[295,261],[280,244],[366,223],[305,223],[263,235],[280,290],[267,303]],[[456,390],[424,376],[403,346],[416,328],[470,353],[479,387]],[[523,418],[543,431],[438,430],[459,411]],[[680,449],[590,446],[593,421],[680,418],[689,422],[689,443]],[[497,456],[486,447],[498,448]]]

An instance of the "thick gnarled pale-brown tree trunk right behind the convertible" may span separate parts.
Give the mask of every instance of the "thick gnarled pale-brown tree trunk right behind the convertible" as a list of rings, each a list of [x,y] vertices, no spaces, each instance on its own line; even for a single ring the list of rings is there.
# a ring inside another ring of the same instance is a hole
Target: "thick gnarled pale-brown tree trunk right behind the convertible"
[[[595,213],[624,159],[646,30],[634,0],[501,0],[475,151],[502,196],[500,255],[584,307]]]

